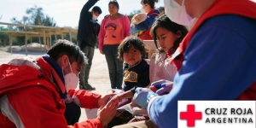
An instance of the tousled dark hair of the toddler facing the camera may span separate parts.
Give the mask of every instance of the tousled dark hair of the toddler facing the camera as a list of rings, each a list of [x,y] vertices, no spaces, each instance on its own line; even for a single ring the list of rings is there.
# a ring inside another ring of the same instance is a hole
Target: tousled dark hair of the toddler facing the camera
[[[119,44],[118,48],[118,58],[120,61],[124,61],[124,53],[128,52],[130,47],[133,46],[135,49],[138,49],[143,55],[142,58],[145,58],[146,51],[143,41],[140,38],[135,36],[126,37],[121,44]]]

